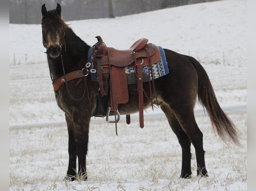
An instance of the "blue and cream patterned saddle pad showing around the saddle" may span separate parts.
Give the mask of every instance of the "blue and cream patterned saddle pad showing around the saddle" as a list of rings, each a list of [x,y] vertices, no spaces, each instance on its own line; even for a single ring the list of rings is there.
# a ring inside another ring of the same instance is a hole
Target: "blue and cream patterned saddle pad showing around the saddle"
[[[169,69],[168,69],[168,64],[167,64],[167,61],[166,61],[166,58],[165,58],[165,54],[164,54],[164,50],[161,46],[157,46],[159,51],[160,51],[160,54],[161,54],[161,59],[159,62],[155,63],[155,64],[151,64],[151,70],[150,70],[150,80],[152,79],[157,79],[159,77],[162,77],[166,74],[169,73]],[[89,49],[89,52],[88,52],[88,59],[90,57],[92,57],[91,55],[92,51],[91,49]],[[89,62],[90,62],[90,59],[89,59]],[[93,64],[90,66],[89,70],[90,69],[93,69]],[[125,73],[126,74],[132,74],[132,73],[135,73],[135,70],[134,68],[130,67],[130,66],[127,66],[124,68],[125,69]],[[148,74],[148,66],[144,66],[142,67],[142,72]],[[91,73],[91,78],[92,78],[92,81],[96,81],[98,82],[98,76],[97,75],[94,75]]]

